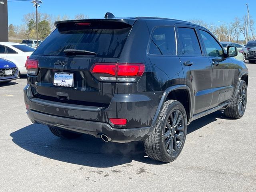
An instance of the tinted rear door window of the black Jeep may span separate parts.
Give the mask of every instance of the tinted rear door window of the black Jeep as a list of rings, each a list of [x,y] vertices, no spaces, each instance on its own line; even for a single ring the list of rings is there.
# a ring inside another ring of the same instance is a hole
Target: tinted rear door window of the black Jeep
[[[192,28],[178,28],[179,44],[181,56],[202,56],[201,48],[196,36],[196,32]]]

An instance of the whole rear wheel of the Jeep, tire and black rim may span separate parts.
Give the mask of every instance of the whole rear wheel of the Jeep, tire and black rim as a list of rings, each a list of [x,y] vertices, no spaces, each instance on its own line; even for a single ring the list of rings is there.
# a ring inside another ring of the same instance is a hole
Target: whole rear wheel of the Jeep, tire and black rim
[[[187,115],[183,105],[176,100],[168,100],[156,127],[144,141],[144,150],[154,160],[172,162],[180,155],[186,134]]]

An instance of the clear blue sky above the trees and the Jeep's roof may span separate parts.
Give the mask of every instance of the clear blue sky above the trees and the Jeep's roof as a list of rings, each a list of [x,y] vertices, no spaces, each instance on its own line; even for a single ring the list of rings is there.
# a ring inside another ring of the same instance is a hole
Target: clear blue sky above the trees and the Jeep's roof
[[[22,16],[35,11],[31,1],[8,0],[8,23],[22,24]],[[218,20],[232,22],[234,17],[247,14],[256,21],[256,0],[42,0],[38,8],[52,16],[85,14],[90,18],[104,17],[112,12],[116,17],[155,16],[180,20],[201,19],[218,24]],[[214,2],[214,4],[212,3]]]

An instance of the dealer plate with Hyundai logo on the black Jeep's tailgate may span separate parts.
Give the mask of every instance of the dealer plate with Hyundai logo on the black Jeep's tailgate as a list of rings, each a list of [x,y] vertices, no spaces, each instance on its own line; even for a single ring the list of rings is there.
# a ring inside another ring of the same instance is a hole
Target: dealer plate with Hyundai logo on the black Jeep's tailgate
[[[54,86],[73,87],[74,86],[74,74],[73,73],[54,73]]]

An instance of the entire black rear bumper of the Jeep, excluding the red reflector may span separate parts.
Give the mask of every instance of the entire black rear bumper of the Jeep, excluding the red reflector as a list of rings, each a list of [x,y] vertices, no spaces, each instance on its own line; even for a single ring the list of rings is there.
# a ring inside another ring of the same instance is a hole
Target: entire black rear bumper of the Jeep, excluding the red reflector
[[[104,108],[34,98],[30,86],[27,85],[24,88],[24,101],[29,105],[27,114],[33,123],[57,126],[96,138],[105,134],[110,141],[125,143],[145,140],[154,129],[152,121],[162,92],[151,94],[154,97],[130,94],[132,97],[129,98],[118,94],[112,98],[110,106]],[[127,124],[113,125],[110,118],[126,118]]]

